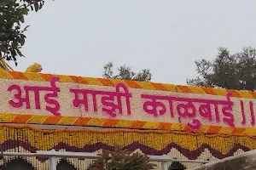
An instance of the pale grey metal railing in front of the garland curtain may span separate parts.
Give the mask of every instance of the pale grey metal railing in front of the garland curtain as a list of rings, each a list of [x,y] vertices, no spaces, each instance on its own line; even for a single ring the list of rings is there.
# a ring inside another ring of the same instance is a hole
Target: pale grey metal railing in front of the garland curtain
[[[55,151],[55,150],[38,150],[35,153],[22,153],[22,152],[2,152],[2,156],[40,156],[49,157],[49,170],[56,170],[56,157],[61,158],[87,158],[96,159],[98,156],[96,153],[87,152],[68,152],[68,151]],[[211,161],[197,161],[197,160],[177,160],[172,159],[170,156],[149,156],[150,161],[161,162],[162,170],[167,170],[167,162],[193,162],[193,163],[207,163]]]

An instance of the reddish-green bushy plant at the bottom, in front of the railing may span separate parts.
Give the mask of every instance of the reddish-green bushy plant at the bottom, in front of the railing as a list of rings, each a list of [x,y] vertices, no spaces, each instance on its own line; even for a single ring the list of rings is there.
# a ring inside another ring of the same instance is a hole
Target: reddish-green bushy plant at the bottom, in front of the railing
[[[148,156],[132,153],[116,147],[113,151],[103,150],[98,159],[88,168],[89,170],[148,170],[154,169],[155,164],[149,163]]]

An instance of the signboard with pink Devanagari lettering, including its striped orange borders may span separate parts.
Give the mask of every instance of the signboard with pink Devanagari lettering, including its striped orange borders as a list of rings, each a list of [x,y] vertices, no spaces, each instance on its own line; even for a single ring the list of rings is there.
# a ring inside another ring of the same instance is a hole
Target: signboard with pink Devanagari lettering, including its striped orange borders
[[[256,132],[254,92],[1,71],[0,93],[0,122]]]

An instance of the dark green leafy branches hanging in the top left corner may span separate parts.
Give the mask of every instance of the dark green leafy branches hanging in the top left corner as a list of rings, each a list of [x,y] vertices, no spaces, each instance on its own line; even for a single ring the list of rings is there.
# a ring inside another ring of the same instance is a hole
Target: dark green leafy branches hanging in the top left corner
[[[24,56],[20,48],[24,45],[26,26],[21,28],[24,17],[30,10],[38,11],[44,0],[0,0],[0,57],[14,60]]]

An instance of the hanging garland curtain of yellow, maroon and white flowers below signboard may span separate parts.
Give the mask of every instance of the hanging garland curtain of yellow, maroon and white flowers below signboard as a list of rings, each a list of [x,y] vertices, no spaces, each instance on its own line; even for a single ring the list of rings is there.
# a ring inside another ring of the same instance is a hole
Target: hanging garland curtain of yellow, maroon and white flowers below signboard
[[[139,150],[147,155],[207,160],[223,159],[237,152],[256,149],[254,138],[239,135],[131,129],[42,130],[28,125],[8,124],[0,125],[0,133],[2,134],[0,143],[4,151],[34,152],[54,148],[55,150],[98,152],[102,149],[113,150],[114,145],[119,144],[126,149]],[[49,163],[47,158],[29,159],[37,169],[45,170]],[[72,161],[72,164],[74,165],[77,161]],[[85,164],[76,165],[76,167],[80,169]],[[189,166],[192,165],[188,164],[187,167]]]

